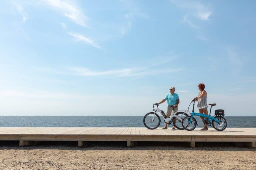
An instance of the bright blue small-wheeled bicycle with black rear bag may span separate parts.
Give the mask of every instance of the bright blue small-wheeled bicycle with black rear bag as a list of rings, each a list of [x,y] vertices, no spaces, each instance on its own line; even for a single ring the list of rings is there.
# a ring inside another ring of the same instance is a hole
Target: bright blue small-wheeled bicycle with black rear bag
[[[182,126],[183,128],[185,128],[186,130],[194,130],[196,128],[197,121],[194,118],[194,116],[200,116],[204,118],[204,123],[207,126],[212,126],[213,128],[215,128],[218,131],[222,131],[225,128],[227,128],[227,121],[224,118],[224,110],[219,109],[219,110],[215,110],[215,116],[212,117],[211,116],[211,111],[212,111],[212,107],[215,106],[216,104],[209,104],[211,106],[210,109],[210,115],[205,115],[202,113],[196,113],[194,112],[194,108],[195,108],[195,101],[196,98],[194,98],[191,103],[193,103],[193,110],[192,110],[192,114],[191,116],[187,116],[182,120]],[[188,108],[190,107],[191,103],[189,104]]]

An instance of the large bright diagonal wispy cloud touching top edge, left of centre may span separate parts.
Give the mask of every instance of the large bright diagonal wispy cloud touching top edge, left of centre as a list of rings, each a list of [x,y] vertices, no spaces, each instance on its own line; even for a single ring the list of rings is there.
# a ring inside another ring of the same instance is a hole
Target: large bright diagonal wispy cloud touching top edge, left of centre
[[[44,5],[51,7],[54,10],[57,10],[64,16],[71,19],[72,22],[81,25],[83,27],[88,27],[86,21],[88,17],[84,16],[83,12],[79,8],[71,3],[70,1],[61,1],[61,0],[40,0]]]

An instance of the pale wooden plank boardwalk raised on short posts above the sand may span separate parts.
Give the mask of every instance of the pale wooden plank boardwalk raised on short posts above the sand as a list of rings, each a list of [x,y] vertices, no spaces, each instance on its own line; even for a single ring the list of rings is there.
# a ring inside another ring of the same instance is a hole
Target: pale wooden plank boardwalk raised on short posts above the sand
[[[175,141],[188,142],[195,147],[195,142],[245,142],[256,147],[256,128],[226,128],[217,131],[209,128],[200,131],[163,130],[157,128],[0,128],[0,140],[19,140],[20,146],[29,145],[32,141],[127,141],[132,146],[134,141]]]

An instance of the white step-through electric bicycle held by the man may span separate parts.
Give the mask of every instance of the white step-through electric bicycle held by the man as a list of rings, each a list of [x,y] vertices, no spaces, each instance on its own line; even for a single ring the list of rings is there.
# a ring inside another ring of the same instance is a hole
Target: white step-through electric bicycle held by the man
[[[156,109],[154,106],[157,106]],[[173,107],[173,108],[175,108],[175,107]],[[189,110],[177,111],[175,113],[173,113],[173,111],[172,111],[171,116],[169,118],[167,118],[164,111],[162,111],[158,108],[158,104],[153,104],[153,112],[147,113],[143,119],[143,123],[146,128],[156,129],[159,127],[159,125],[161,123],[161,119],[160,119],[159,115],[157,114],[157,112],[159,112],[163,116],[165,123],[167,123],[169,126],[173,123],[173,125],[176,128],[181,129],[181,130],[184,129],[182,126],[182,120],[186,116],[191,115]]]

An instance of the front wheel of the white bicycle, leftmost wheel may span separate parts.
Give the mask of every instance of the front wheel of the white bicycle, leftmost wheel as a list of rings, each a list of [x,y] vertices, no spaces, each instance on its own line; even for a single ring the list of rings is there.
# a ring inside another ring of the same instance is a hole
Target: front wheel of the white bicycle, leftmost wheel
[[[149,112],[144,116],[143,123],[148,129],[156,129],[159,127],[161,121],[160,117],[154,112]]]

